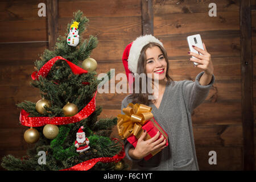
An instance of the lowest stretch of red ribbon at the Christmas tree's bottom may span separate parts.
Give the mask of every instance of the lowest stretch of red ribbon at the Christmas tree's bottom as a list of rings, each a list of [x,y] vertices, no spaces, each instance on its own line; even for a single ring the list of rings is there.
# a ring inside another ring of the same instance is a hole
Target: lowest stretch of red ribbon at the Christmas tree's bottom
[[[114,138],[114,140],[118,140],[118,139]],[[82,162],[80,164],[76,164],[76,166],[73,166],[71,168],[62,169],[60,171],[88,171],[97,162],[103,162],[103,163],[118,162],[123,158],[125,158],[125,150],[122,144],[122,151],[119,154],[113,156],[112,158],[94,158],[94,159],[86,160],[85,162]]]

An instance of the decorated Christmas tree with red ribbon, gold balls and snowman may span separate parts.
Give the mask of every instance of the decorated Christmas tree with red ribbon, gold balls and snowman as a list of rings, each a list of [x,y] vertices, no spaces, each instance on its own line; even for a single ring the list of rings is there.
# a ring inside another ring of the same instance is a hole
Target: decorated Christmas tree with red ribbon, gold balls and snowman
[[[83,168],[76,170],[127,168],[120,156],[122,143],[110,138],[117,118],[97,119],[102,107],[93,107],[98,84],[103,81],[103,78],[97,79],[97,63],[89,57],[97,46],[97,38],[90,35],[83,40],[82,34],[89,20],[81,11],[73,16],[67,34],[59,36],[55,48],[46,49],[40,60],[35,61],[36,71],[31,75],[31,85],[40,89],[42,100],[17,104],[22,109],[20,123],[24,125],[22,127],[28,126],[24,139],[35,144],[22,159],[4,156],[3,168],[61,170],[80,163]],[[88,70],[78,67],[82,60],[85,60],[85,66],[90,66]],[[110,79],[110,71],[107,75]],[[81,140],[83,143],[76,141],[82,137],[86,139]],[[45,161],[40,159],[42,151],[46,154]]]

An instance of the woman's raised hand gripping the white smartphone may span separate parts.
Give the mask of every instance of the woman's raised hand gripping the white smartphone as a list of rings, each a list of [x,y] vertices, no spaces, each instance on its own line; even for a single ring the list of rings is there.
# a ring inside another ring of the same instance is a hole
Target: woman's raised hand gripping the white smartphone
[[[200,49],[199,47],[193,47],[196,51],[199,51],[201,55],[198,53],[194,52],[188,52],[189,55],[192,55],[194,57],[191,57],[189,60],[193,61],[195,63],[199,63],[199,65],[195,65],[198,68],[204,69],[204,72],[207,75],[213,75],[213,64],[212,64],[212,59],[210,57],[210,54],[207,52],[207,48],[205,47],[205,44],[203,43],[204,50]]]

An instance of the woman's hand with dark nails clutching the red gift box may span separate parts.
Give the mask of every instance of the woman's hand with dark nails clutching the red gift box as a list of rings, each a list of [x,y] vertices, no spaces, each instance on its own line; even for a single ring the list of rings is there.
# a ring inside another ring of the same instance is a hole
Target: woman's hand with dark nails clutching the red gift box
[[[129,150],[129,155],[134,159],[142,159],[144,156],[147,156],[152,151],[163,150],[166,147],[166,139],[163,137],[159,137],[160,132],[156,133],[156,135],[148,140],[144,140],[147,132],[144,131],[141,137],[138,139],[137,146],[135,149]]]

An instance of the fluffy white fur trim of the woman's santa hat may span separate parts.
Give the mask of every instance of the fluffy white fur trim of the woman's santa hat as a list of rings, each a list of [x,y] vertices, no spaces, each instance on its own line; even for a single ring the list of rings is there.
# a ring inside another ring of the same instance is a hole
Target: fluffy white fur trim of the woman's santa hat
[[[158,43],[163,47],[163,43],[152,35],[139,36],[136,40],[134,40],[128,57],[128,68],[131,72],[137,73],[138,60],[139,55],[141,55],[141,50],[144,46],[151,42]]]

